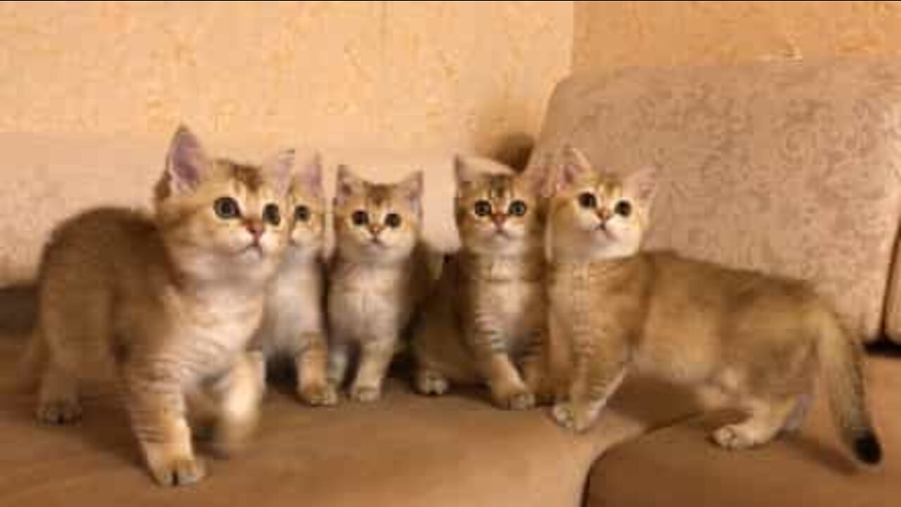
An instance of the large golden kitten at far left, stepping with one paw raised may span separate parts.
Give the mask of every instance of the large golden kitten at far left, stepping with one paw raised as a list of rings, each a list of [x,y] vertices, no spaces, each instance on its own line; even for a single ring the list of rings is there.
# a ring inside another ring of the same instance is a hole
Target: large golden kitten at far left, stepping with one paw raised
[[[265,171],[211,159],[180,127],[152,217],[101,208],[56,229],[41,259],[26,356],[41,377],[39,419],[77,419],[78,384],[117,373],[159,484],[205,475],[187,422],[195,403],[198,410],[214,404],[219,450],[241,443],[261,390],[259,358],[244,350],[285,247],[281,214],[293,157],[281,153]]]

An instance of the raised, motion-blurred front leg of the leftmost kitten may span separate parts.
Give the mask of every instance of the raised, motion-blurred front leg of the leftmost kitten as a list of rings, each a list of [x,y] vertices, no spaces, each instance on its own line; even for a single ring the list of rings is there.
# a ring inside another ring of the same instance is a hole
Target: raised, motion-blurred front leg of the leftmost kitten
[[[213,386],[212,392],[220,412],[214,447],[222,456],[240,450],[257,428],[259,402],[263,395],[263,384],[259,383],[262,364],[265,360],[261,352],[245,353],[239,356],[232,370]]]

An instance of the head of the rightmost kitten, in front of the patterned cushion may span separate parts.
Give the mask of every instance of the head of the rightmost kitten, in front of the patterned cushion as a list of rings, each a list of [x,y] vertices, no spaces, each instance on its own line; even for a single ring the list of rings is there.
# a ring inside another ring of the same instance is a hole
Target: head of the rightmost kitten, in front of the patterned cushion
[[[565,147],[550,189],[554,257],[594,260],[637,253],[656,188],[654,169],[618,177],[596,171],[582,152]]]

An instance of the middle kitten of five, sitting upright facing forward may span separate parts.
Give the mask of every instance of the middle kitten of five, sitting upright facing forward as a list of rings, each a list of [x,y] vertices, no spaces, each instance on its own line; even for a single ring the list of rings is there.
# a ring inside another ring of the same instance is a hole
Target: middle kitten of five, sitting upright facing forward
[[[376,401],[400,336],[428,292],[428,258],[420,242],[423,173],[395,184],[362,180],[338,168],[336,250],[328,294],[329,378],[341,385],[351,352],[359,365],[355,401]],[[351,350],[353,349],[353,350]]]

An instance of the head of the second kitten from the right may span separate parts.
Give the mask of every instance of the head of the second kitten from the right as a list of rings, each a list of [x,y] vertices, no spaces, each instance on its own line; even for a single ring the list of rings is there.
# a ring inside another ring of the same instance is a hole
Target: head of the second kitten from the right
[[[541,250],[544,241],[543,174],[479,171],[454,159],[457,228],[463,249],[485,255],[519,255]]]

